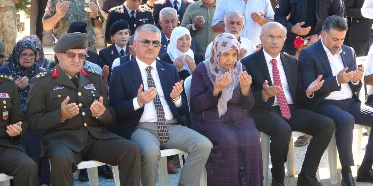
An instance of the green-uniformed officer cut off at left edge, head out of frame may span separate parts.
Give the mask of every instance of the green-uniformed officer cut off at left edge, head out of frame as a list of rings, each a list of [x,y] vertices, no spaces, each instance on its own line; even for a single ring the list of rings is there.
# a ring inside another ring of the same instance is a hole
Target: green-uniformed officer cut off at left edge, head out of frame
[[[0,173],[14,176],[15,186],[38,186],[38,165],[20,143],[27,128],[18,90],[11,76],[0,74]]]

